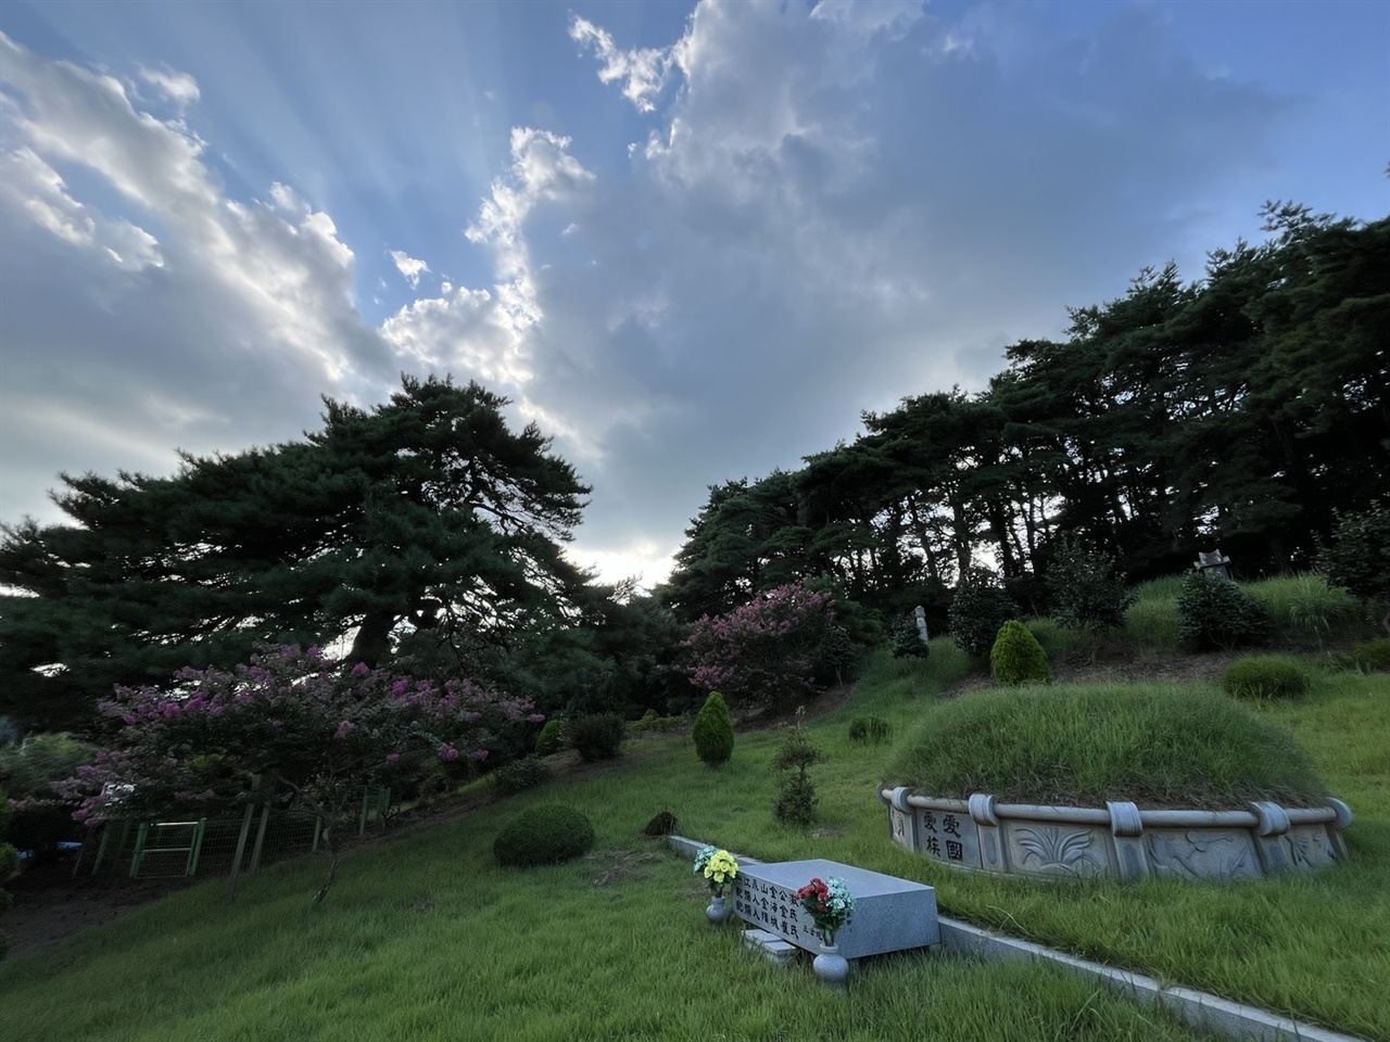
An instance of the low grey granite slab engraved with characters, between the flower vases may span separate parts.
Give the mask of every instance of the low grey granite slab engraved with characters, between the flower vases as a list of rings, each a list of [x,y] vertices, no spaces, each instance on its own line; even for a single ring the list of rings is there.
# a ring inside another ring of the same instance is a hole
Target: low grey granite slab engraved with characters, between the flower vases
[[[812,877],[831,875],[844,879],[855,898],[853,914],[835,932],[845,959],[940,943],[931,886],[821,859],[741,866],[733,888],[734,914],[796,948],[819,952],[824,938],[796,891]]]

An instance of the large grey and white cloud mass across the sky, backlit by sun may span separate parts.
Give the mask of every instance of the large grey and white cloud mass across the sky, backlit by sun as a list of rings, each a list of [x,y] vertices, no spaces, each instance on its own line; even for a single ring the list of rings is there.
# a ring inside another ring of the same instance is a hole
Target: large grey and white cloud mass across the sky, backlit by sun
[[[1030,18],[702,3],[667,46],[624,47],[573,17],[577,67],[642,135],[514,128],[455,224],[491,278],[428,290],[438,258],[354,251],[293,185],[232,197],[193,75],[0,36],[0,517],[43,513],[58,470],[165,471],[175,446],[293,438],[322,393],[449,371],[595,486],[578,560],[657,581],[705,485],[979,388],[1066,304],[1227,245],[1202,240],[1204,200],[1268,161],[1289,103],[1202,74],[1145,8],[1084,36]],[[357,253],[417,293],[375,325]]]

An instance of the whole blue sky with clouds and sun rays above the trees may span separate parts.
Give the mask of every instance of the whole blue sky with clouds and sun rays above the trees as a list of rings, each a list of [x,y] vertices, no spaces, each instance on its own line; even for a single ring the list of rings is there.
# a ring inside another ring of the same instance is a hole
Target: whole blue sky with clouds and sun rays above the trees
[[[6,0],[0,521],[452,374],[651,586],[708,486],[1387,163],[1390,0]]]

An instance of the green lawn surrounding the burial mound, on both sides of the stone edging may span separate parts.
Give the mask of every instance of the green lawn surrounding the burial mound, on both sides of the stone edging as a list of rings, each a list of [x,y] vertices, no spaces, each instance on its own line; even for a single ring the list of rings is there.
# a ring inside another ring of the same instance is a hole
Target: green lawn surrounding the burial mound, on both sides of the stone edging
[[[0,964],[0,1038],[1191,1036],[1044,967],[917,953],[867,960],[844,995],[805,967],[776,970],[745,954],[734,931],[705,923],[684,860],[637,838],[669,809],[692,838],[929,882],[944,914],[1390,1039],[1390,677],[1315,674],[1305,697],[1250,707],[1291,731],[1355,810],[1348,863],[1234,886],[1048,884],[954,873],[888,839],[874,788],[937,710],[941,685],[967,667],[949,642],[934,642],[926,660],[876,657],[837,713],[808,724],[828,756],[810,771],[813,829],[773,820],[778,731],[738,734],[733,759],[714,770],[688,735],[632,738],[619,761],[577,781],[350,854],[318,907],[309,899],[322,863],[309,859],[249,881],[231,909],[213,881]],[[848,722],[869,713],[899,742],[852,742]],[[589,814],[605,853],[498,868],[491,843],[502,824],[557,800]]]

